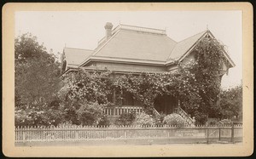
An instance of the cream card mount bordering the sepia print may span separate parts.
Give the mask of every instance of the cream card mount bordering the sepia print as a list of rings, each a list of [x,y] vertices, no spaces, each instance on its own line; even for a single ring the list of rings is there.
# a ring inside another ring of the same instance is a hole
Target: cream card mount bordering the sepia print
[[[242,11],[243,143],[210,145],[15,146],[15,12]],[[3,13],[3,154],[5,156],[250,156],[253,153],[253,6],[251,3],[6,3]],[[129,149],[129,150],[127,150]]]

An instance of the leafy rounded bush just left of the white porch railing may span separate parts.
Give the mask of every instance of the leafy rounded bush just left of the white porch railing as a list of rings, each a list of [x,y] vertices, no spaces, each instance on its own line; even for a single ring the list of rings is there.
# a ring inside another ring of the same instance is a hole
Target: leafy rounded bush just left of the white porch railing
[[[102,118],[103,105],[98,103],[87,103],[87,101],[79,103],[80,107],[77,110],[77,115],[80,124],[84,125],[96,125],[99,119]]]

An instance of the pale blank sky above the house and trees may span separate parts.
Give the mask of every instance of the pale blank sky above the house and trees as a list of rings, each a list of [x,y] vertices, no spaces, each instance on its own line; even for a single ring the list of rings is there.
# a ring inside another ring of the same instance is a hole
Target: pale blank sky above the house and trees
[[[166,30],[168,37],[182,41],[201,31],[212,31],[224,43],[236,66],[222,79],[222,88],[233,88],[242,79],[241,11],[22,11],[15,13],[15,37],[31,32],[55,54],[67,48],[95,49],[111,22]]]

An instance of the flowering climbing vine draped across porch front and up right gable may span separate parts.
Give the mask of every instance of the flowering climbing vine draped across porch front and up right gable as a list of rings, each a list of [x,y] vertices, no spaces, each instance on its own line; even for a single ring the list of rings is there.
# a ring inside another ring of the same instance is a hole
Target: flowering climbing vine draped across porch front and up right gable
[[[224,46],[218,41],[205,38],[193,51],[195,59],[185,65],[177,63],[178,69],[174,72],[131,72],[119,77],[111,71],[73,72],[64,77],[64,85],[59,92],[61,105],[77,116],[75,112],[81,105],[113,105],[113,94],[115,99],[131,94],[150,114],[158,95],[172,95],[180,99],[183,109],[195,116],[196,121],[204,123],[207,116],[217,116],[219,111],[219,71],[226,63],[223,51]]]

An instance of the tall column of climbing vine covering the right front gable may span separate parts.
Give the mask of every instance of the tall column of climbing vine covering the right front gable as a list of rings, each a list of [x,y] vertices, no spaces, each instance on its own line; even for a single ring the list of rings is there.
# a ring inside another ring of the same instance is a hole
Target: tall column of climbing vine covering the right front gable
[[[195,46],[195,60],[187,66],[188,71],[195,75],[193,85],[199,98],[191,96],[190,99],[182,99],[181,104],[197,122],[205,123],[208,116],[219,114],[220,71],[223,64],[228,64],[223,51],[223,44],[215,38],[206,37]]]

